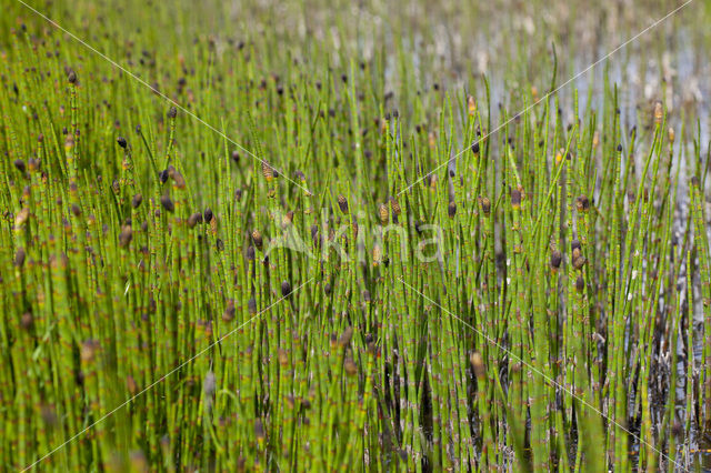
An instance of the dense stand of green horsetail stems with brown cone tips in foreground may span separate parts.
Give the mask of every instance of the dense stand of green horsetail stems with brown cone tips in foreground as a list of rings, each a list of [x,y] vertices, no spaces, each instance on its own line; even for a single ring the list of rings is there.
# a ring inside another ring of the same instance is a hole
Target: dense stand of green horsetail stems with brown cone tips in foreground
[[[485,79],[413,93],[398,50],[395,107],[384,52],[310,74],[93,36],[151,92],[28,24],[0,58],[2,469],[692,463],[709,160],[663,94],[633,127],[610,81],[519,113]]]

